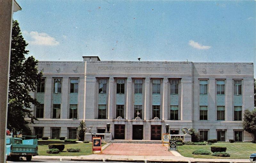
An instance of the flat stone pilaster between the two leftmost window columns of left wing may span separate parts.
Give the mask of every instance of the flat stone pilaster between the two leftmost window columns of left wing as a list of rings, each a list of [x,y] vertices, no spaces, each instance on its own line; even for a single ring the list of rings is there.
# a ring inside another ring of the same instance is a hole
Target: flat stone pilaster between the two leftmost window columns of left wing
[[[46,76],[44,92],[44,118],[51,118],[52,112],[52,77]]]

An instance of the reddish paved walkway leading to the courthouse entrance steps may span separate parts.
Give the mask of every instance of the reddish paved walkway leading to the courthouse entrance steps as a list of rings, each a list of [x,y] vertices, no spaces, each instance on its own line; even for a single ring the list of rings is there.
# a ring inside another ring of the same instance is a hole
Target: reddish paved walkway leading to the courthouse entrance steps
[[[106,155],[174,156],[162,144],[112,143],[102,151]]]

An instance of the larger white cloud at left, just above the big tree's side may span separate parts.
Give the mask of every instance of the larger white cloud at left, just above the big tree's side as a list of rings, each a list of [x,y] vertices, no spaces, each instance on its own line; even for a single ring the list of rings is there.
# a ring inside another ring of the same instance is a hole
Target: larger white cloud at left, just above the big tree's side
[[[36,31],[31,31],[29,33],[31,41],[28,41],[30,44],[34,45],[44,45],[44,46],[57,46],[60,43],[55,40],[55,38],[49,36],[47,33],[38,33]]]

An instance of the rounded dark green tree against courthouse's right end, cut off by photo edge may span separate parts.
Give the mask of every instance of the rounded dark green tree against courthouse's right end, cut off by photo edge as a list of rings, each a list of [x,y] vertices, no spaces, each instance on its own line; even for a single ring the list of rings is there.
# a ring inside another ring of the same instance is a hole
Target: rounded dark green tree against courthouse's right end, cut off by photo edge
[[[244,110],[244,130],[251,133],[254,137],[254,143],[256,143],[256,109],[250,111]]]

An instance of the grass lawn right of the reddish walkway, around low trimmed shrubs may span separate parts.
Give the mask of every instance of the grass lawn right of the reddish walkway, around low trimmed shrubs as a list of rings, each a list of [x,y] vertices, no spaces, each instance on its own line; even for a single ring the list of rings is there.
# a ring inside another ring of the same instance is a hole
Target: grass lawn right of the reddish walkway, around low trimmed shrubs
[[[240,142],[241,143],[241,142]],[[227,147],[230,157],[215,157],[212,155],[195,155],[193,151],[198,149],[211,151],[211,146]],[[228,144],[212,144],[212,145],[179,145],[178,152],[185,157],[204,158],[204,159],[249,159],[252,153],[256,153],[256,144],[253,143],[228,143]]]

